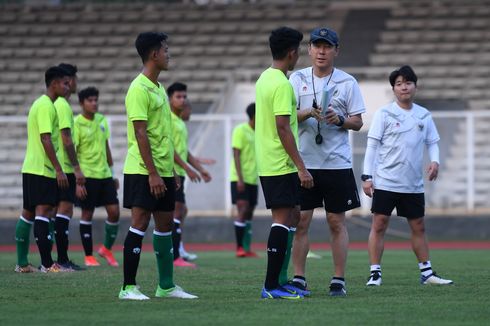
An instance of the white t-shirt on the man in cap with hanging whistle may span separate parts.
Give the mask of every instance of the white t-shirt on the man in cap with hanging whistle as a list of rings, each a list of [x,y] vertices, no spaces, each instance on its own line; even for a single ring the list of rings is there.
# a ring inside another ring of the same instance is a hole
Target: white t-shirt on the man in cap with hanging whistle
[[[299,109],[311,108],[313,104],[312,67],[295,71],[289,77]],[[366,112],[361,90],[354,77],[340,69],[334,69],[333,75],[314,77],[314,88],[318,107],[322,106],[324,90],[333,90],[331,104],[337,114],[345,118]],[[308,118],[298,125],[299,152],[308,169],[349,169],[352,168],[352,151],[349,144],[349,132],[341,127],[320,123],[322,144],[315,143],[318,123]]]

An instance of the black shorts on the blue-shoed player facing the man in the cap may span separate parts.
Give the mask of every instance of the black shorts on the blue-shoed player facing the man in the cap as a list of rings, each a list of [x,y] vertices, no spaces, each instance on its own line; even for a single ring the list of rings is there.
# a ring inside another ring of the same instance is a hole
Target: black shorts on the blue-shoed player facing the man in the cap
[[[260,177],[260,184],[264,192],[265,206],[268,209],[299,205],[298,173]]]

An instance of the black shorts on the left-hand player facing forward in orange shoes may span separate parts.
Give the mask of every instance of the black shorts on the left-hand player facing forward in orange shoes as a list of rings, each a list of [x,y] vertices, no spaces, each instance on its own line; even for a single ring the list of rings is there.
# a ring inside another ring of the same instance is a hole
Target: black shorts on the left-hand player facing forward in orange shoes
[[[78,202],[78,206],[82,209],[93,210],[95,207],[119,204],[116,185],[112,178],[87,178],[85,189],[87,189],[87,197]]]

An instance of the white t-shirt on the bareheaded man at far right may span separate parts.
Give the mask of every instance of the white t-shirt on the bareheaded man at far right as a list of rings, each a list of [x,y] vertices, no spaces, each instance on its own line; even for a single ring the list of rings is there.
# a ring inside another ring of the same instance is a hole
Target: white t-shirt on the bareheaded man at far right
[[[415,103],[404,110],[393,102],[375,113],[368,137],[380,142],[373,169],[374,188],[423,193],[424,145],[440,139],[430,112]]]

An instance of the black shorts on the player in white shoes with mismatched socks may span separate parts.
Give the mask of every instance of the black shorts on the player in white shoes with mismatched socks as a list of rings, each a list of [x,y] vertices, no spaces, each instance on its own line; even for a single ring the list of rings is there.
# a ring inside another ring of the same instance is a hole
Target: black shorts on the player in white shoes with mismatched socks
[[[150,192],[148,176],[143,174],[124,175],[123,207],[140,207],[150,212],[172,212],[175,210],[175,179],[163,178],[167,190],[163,198],[155,198]]]

